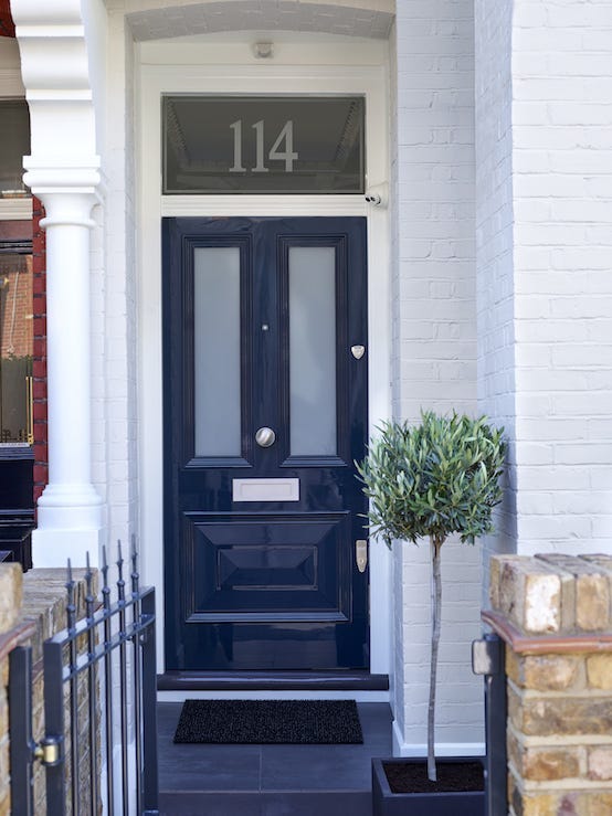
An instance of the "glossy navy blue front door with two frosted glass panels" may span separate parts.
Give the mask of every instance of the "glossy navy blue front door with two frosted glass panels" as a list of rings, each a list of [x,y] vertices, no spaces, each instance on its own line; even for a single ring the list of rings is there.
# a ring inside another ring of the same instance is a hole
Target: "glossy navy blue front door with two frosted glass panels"
[[[166,665],[368,669],[366,221],[163,220]]]

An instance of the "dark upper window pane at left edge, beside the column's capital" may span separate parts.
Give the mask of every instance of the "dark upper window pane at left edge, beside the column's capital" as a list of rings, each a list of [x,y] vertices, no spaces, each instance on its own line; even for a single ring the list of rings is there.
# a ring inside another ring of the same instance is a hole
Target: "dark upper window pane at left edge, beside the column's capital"
[[[2,149],[0,150],[0,197],[28,195],[23,184],[23,156],[30,152],[30,114],[24,99],[0,100]]]

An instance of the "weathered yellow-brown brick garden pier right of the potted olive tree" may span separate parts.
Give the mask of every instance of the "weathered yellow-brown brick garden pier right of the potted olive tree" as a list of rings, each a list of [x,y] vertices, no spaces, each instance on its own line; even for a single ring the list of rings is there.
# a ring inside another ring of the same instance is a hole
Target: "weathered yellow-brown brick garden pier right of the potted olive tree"
[[[612,814],[612,557],[492,559],[506,642],[508,813]]]

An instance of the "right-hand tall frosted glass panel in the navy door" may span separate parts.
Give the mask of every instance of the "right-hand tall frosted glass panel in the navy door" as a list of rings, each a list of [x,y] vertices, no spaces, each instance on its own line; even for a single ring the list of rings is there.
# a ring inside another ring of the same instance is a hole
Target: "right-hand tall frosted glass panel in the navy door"
[[[336,252],[289,248],[292,456],[336,454]]]

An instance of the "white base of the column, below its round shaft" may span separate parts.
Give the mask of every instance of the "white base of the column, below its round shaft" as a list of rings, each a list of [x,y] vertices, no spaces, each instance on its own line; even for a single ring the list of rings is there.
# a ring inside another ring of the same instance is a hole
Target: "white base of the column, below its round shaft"
[[[38,502],[38,527],[32,532],[36,566],[92,566],[101,563],[105,542],[104,505],[92,485],[48,485]]]

